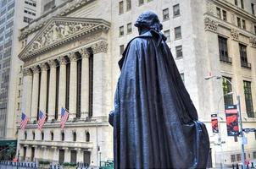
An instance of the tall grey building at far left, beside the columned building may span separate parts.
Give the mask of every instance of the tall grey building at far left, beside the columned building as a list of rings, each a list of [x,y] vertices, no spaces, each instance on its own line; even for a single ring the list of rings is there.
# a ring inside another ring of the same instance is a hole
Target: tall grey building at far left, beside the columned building
[[[36,0],[0,1],[0,139],[17,139],[16,115],[20,112],[22,62],[19,29],[38,17]],[[37,4],[38,5],[38,4]]]

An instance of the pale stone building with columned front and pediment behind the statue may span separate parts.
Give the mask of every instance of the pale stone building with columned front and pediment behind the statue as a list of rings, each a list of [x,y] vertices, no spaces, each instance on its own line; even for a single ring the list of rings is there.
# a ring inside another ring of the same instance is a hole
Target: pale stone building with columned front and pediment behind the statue
[[[224,114],[225,104],[237,104],[236,95],[223,95],[231,91],[241,95],[243,126],[255,128],[254,4],[254,0],[81,0],[47,11],[19,35],[19,43],[27,41],[19,52],[24,62],[22,108],[31,117],[27,128],[19,129],[20,156],[27,161],[92,166],[113,159],[108,114],[120,74],[117,63],[137,35],[133,26],[137,16],[153,10],[163,23],[199,120],[209,130],[209,166],[241,161],[241,140],[227,136]],[[222,79],[205,81],[209,73],[231,79],[232,88]],[[70,112],[64,129],[59,127],[61,107]],[[47,114],[42,131],[36,125],[39,111]],[[212,133],[210,123],[210,115],[217,112],[221,137]],[[256,135],[245,135],[247,159],[256,159]]]

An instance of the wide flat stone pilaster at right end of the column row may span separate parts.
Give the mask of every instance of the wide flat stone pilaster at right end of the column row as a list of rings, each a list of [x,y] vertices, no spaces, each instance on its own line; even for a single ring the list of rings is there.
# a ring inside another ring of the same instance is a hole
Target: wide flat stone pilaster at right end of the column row
[[[110,88],[108,44],[99,41],[92,45],[93,52],[93,105],[92,117],[107,117],[113,100]]]

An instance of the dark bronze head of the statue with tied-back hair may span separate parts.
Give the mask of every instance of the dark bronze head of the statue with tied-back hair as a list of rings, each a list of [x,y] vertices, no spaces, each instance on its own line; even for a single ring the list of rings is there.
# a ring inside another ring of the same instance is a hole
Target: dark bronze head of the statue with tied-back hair
[[[154,14],[152,11],[146,11],[140,14],[138,19],[136,19],[135,26],[138,28],[140,35],[148,30],[160,31],[163,29],[158,15]]]

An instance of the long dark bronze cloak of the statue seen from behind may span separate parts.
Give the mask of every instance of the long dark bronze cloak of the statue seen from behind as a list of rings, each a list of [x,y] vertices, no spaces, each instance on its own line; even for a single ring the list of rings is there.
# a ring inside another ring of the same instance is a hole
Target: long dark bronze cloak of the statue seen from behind
[[[209,136],[183,85],[165,37],[131,40],[120,62],[114,111],[115,168],[205,168]]]

